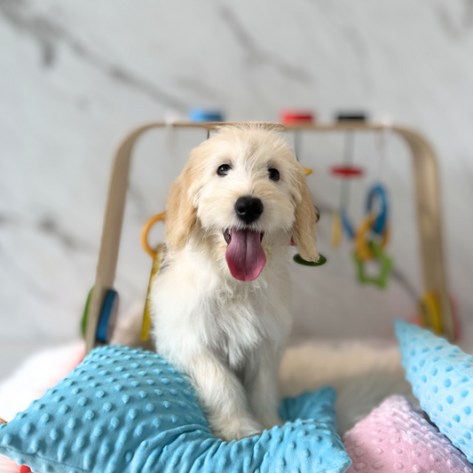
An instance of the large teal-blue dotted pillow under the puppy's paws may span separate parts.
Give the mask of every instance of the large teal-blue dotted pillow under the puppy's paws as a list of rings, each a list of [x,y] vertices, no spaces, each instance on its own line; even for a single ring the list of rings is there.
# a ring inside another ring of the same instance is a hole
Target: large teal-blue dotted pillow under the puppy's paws
[[[330,388],[286,399],[283,427],[226,443],[185,375],[156,353],[106,346],[0,427],[0,454],[36,473],[343,473],[334,401]]]

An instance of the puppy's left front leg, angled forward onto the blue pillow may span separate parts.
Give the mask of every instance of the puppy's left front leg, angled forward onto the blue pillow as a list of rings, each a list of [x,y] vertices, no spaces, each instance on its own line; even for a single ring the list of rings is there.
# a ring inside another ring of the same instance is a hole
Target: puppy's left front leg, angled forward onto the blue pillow
[[[245,390],[230,368],[210,352],[192,359],[189,374],[214,435],[230,442],[260,433],[263,427],[250,414]]]

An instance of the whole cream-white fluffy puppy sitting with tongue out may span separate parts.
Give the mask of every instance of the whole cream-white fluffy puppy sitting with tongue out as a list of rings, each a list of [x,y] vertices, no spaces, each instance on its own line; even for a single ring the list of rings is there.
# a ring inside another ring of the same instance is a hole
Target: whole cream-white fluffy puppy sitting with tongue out
[[[189,374],[226,441],[280,424],[291,237],[304,259],[319,258],[304,167],[278,130],[228,124],[193,149],[169,191],[150,296],[157,351]]]

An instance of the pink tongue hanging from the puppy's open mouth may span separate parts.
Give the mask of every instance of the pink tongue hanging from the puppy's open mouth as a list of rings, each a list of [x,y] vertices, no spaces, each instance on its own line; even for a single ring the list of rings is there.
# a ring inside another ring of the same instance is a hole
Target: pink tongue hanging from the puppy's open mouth
[[[266,264],[261,248],[261,233],[232,230],[232,241],[226,248],[226,264],[236,280],[256,280]]]

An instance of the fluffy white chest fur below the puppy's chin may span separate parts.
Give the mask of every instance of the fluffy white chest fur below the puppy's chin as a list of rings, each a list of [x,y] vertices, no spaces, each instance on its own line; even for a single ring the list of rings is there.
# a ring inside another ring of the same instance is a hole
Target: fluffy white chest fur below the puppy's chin
[[[168,257],[152,291],[156,347],[164,356],[184,367],[192,353],[209,350],[240,369],[266,343],[286,343],[291,327],[286,251],[252,282],[234,280],[190,245]]]

